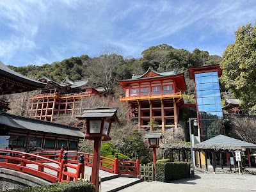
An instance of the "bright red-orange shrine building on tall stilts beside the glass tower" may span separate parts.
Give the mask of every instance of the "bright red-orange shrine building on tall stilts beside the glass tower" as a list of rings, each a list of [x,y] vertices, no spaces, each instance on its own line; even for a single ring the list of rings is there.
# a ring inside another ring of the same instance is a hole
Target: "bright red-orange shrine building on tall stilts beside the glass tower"
[[[118,83],[125,92],[120,100],[131,104],[128,118],[138,122],[139,131],[150,128],[153,119],[162,132],[177,127],[179,108],[184,104],[181,91],[186,90],[184,74],[160,73],[148,68],[145,74]]]

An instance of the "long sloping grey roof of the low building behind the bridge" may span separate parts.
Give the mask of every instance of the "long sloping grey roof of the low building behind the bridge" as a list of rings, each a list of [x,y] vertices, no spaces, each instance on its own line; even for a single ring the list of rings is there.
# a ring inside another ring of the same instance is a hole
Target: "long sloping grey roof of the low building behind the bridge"
[[[0,113],[0,125],[20,129],[20,131],[47,132],[49,134],[73,136],[76,138],[84,138],[83,132],[76,127],[46,122],[23,116],[10,115],[8,113]]]

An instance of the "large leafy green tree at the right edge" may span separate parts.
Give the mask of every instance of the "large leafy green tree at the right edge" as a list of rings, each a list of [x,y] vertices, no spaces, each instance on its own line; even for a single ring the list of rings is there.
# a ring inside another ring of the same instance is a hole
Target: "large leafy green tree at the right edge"
[[[242,106],[256,104],[256,26],[240,26],[234,44],[223,52],[221,83],[241,100]]]

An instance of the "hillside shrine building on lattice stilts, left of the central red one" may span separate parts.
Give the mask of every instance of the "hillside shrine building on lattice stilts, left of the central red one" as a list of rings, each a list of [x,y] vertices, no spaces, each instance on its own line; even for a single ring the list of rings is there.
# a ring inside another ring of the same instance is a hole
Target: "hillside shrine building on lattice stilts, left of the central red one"
[[[101,91],[100,88],[88,87],[88,81],[73,81],[68,77],[61,83],[47,77],[42,77],[38,81],[47,85],[39,94],[29,99],[31,108],[28,109],[27,116],[51,122],[54,116],[81,115],[83,98],[99,94]]]

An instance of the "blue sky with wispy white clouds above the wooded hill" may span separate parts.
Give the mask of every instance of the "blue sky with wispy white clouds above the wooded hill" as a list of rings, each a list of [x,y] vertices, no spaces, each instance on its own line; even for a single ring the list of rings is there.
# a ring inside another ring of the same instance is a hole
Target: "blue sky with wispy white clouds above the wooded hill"
[[[0,61],[51,64],[99,56],[106,47],[141,57],[153,45],[221,53],[234,31],[256,20],[256,1],[0,1]]]

